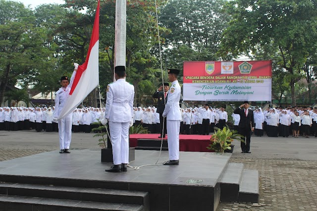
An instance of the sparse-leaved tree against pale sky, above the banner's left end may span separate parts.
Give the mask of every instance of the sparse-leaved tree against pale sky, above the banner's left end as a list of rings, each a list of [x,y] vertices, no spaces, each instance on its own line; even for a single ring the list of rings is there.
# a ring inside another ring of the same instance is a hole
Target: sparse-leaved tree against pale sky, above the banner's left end
[[[222,32],[230,20],[221,11],[225,2],[170,0],[160,9],[159,23],[170,30],[162,34],[168,67],[183,69],[184,60],[218,60]]]

